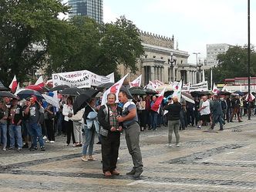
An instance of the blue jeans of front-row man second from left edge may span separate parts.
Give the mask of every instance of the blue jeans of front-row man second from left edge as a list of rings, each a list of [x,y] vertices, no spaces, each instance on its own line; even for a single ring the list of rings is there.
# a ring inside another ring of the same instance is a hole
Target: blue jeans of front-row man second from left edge
[[[10,147],[15,148],[15,139],[18,147],[22,148],[22,126],[9,125]]]

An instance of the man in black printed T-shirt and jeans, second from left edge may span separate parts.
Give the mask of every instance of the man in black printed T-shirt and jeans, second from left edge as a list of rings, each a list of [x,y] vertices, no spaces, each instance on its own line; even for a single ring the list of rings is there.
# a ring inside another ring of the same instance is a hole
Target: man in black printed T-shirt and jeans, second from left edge
[[[18,99],[12,99],[12,105],[8,113],[9,120],[9,150],[15,150],[15,141],[18,145],[18,151],[22,150],[22,106],[18,105]]]

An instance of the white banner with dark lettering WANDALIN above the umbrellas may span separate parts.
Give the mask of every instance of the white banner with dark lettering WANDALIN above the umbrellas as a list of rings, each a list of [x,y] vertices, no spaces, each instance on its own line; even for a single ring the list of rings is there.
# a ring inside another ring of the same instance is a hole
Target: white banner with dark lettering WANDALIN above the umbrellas
[[[108,76],[99,76],[88,70],[74,72],[59,72],[52,74],[54,86],[67,85],[70,87],[89,88],[103,83],[114,83],[114,73]]]

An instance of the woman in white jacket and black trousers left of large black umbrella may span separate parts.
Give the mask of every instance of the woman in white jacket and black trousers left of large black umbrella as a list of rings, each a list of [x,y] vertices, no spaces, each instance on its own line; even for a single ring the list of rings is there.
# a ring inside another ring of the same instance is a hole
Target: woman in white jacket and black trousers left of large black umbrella
[[[73,115],[73,102],[72,102],[72,97],[69,96],[66,99],[66,104],[64,104],[63,109],[62,109],[62,114],[64,116],[64,126],[66,126],[66,144],[69,146],[71,136],[72,136],[72,144],[76,143],[75,136],[74,136],[74,130],[73,130],[73,122],[71,120],[71,117]]]

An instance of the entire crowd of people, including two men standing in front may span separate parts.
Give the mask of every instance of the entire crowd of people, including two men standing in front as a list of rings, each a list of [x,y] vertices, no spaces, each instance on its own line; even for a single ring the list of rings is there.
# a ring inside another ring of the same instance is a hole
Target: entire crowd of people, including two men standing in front
[[[224,130],[225,123],[241,122],[242,116],[255,114],[254,102],[244,96],[196,96],[194,103],[182,96],[169,97],[160,103],[156,112],[152,109],[157,96],[134,96],[127,93],[109,93],[107,103],[101,105],[101,98],[91,98],[88,105],[73,113],[73,97],[63,96],[56,109],[45,101],[30,96],[19,100],[4,97],[0,100],[0,143],[2,150],[45,150],[45,143],[55,143],[55,137],[66,135],[66,145],[82,147],[81,160],[96,160],[93,144],[96,135],[102,148],[103,173],[106,177],[119,175],[116,161],[120,147],[120,134],[125,133],[126,145],[133,160],[133,168],[128,175],[140,177],[143,173],[140,152],[140,131],[156,131],[160,126],[168,126],[168,143],[172,147],[172,133],[176,146],[180,146],[180,130],[187,126],[207,126],[214,129],[219,123]],[[248,107],[249,106],[249,107]]]

